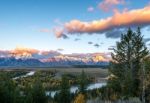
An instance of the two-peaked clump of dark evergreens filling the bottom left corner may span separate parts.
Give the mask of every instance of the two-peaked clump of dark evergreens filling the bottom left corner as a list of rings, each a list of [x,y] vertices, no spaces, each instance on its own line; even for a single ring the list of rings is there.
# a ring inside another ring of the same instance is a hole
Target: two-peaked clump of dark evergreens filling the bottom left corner
[[[6,74],[0,79],[0,103],[47,103],[48,97],[38,79],[24,91]]]

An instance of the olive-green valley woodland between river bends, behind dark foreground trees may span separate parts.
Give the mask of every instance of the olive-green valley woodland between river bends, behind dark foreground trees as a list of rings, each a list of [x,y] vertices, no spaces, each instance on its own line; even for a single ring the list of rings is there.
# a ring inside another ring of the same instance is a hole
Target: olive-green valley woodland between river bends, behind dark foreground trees
[[[6,74],[10,78],[14,78],[20,76],[21,74],[25,75],[28,72],[29,71],[2,71],[0,72],[0,75]],[[34,82],[34,79],[36,79],[37,75],[39,76],[39,80],[41,81],[46,91],[59,89],[62,74],[52,70],[37,70],[33,76],[28,76],[26,78],[18,78],[14,81],[17,83],[20,89],[25,89],[26,85]],[[66,76],[69,80],[70,86],[78,85],[78,74],[66,74]],[[87,79],[88,84],[94,82],[95,80],[94,76],[89,76]]]

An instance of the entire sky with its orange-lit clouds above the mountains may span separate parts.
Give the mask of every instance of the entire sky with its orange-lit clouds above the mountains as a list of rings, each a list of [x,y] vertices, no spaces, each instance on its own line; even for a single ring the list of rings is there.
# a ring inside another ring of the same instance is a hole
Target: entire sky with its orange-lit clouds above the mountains
[[[110,52],[129,27],[150,45],[149,24],[150,0],[1,0],[0,49]]]

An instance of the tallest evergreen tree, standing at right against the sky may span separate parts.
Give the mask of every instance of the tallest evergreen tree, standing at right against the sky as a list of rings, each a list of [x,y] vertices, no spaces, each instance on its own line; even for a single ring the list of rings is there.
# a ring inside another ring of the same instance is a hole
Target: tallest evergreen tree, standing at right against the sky
[[[126,34],[121,35],[121,40],[117,42],[112,53],[110,73],[115,79],[111,79],[108,85],[113,85],[115,81],[123,96],[140,96],[141,61],[147,54],[140,28],[136,32],[129,28]]]

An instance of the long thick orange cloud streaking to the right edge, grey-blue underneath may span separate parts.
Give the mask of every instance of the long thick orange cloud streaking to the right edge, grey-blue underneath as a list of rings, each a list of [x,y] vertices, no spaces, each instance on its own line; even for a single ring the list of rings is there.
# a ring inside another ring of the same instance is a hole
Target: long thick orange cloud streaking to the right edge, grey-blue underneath
[[[127,27],[147,26],[150,24],[150,6],[142,9],[131,11],[115,11],[114,15],[105,19],[84,22],[80,20],[71,20],[63,25],[63,27],[55,28],[55,35],[60,38],[63,34],[105,34],[106,37],[119,37],[117,34],[110,34],[114,29],[124,29]],[[116,31],[115,31],[116,32]],[[111,35],[111,36],[110,36]],[[113,35],[113,36],[112,36]]]

